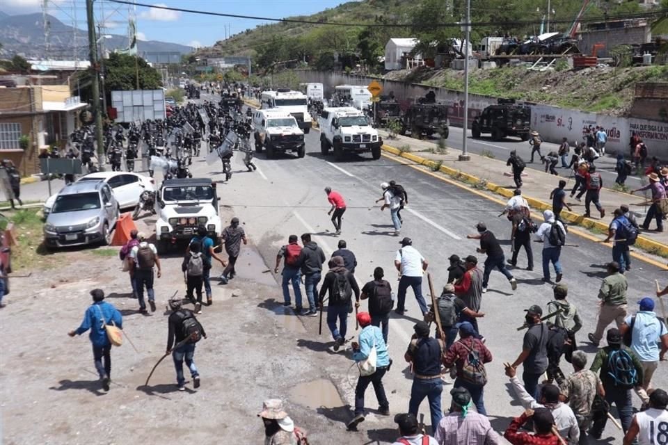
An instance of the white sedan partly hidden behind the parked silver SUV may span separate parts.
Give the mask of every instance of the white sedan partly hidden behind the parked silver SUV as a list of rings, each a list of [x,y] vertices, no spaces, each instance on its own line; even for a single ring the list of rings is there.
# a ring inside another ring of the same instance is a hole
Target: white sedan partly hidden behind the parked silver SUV
[[[106,184],[109,184],[120,209],[134,208],[139,202],[139,197],[143,191],[155,191],[155,181],[153,178],[132,172],[90,173],[80,177],[76,182],[85,181],[104,181]],[[54,207],[57,196],[58,193],[54,193],[45,202],[43,209],[45,218],[51,213],[51,208]]]

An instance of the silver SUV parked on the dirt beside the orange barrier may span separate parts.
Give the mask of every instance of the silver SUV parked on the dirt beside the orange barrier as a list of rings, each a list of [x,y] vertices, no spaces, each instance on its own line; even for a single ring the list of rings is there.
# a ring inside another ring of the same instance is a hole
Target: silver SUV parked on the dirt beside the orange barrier
[[[120,209],[104,181],[75,182],[63,188],[44,225],[47,248],[111,243]]]

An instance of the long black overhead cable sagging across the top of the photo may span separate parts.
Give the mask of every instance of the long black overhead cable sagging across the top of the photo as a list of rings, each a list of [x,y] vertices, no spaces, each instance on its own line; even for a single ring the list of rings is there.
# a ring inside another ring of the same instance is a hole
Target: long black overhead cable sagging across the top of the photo
[[[249,19],[249,20],[261,20],[264,22],[280,22],[280,23],[294,23],[294,24],[312,24],[312,25],[324,25],[324,26],[354,26],[354,27],[372,27],[372,28],[436,28],[436,27],[456,27],[466,26],[467,24],[462,22],[452,22],[452,23],[425,23],[425,24],[415,24],[415,23],[342,23],[342,22],[318,22],[314,20],[305,20],[305,19],[278,19],[276,17],[257,17],[254,15],[239,15],[239,14],[226,14],[226,13],[214,13],[213,11],[204,11],[204,10],[194,10],[194,9],[184,9],[184,8],[173,8],[170,6],[159,6],[151,5],[148,3],[136,3],[134,1],[127,0],[108,0],[111,3],[122,3],[126,5],[134,6],[143,6],[145,8],[155,8],[175,11],[177,13],[189,13],[189,14],[200,14],[200,15],[213,15],[217,17],[230,17],[233,19]],[[648,17],[657,17],[668,15],[668,8],[660,8],[657,10],[649,10],[643,13],[628,13],[620,15],[604,15],[596,17],[582,17],[580,23],[592,23],[592,22],[603,22],[603,21],[614,21],[614,20],[625,20],[625,19],[644,19]],[[550,20],[552,24],[572,24],[573,19],[555,19]],[[516,20],[516,21],[493,21],[493,22],[475,22],[468,24],[469,26],[526,26],[526,25],[535,25],[541,24],[541,20]]]

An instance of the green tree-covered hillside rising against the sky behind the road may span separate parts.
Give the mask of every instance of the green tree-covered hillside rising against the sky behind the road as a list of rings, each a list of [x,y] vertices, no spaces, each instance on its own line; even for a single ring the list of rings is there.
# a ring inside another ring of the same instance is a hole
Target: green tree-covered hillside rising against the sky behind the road
[[[543,4],[545,3],[545,4]],[[201,49],[198,56],[250,56],[255,70],[276,71],[285,66],[308,65],[319,70],[334,67],[334,54],[344,67],[359,64],[367,72],[379,72],[377,58],[390,38],[413,37],[423,42],[417,48],[429,56],[450,38],[461,38],[457,24],[464,15],[465,0],[363,0],[343,3],[320,13],[289,17],[321,24],[276,23],[257,26]],[[551,0],[551,31],[565,32],[578,15],[582,0]],[[615,17],[641,11],[637,1],[592,1],[584,17]],[[485,35],[535,35],[546,16],[546,1],[471,0],[474,24],[471,40]],[[490,25],[479,25],[489,24]],[[527,23],[528,22],[528,23]],[[328,25],[328,24],[330,25]],[[333,26],[332,23],[358,26]],[[401,26],[368,26],[399,24]],[[434,26],[446,24],[450,26]],[[429,44],[431,43],[431,45]]]

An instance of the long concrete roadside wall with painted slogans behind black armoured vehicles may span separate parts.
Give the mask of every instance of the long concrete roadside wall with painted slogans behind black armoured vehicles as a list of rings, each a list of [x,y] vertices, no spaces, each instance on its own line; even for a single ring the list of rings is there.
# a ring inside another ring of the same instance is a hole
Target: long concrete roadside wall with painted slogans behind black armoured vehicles
[[[397,100],[402,106],[407,106],[418,97],[424,97],[429,91],[436,93],[436,101],[447,104],[448,118],[454,127],[461,127],[463,122],[463,92],[446,90],[444,88],[431,88],[417,85],[415,83],[404,83],[399,81],[388,81],[373,79],[366,76],[349,76],[339,72],[315,72],[296,71],[302,81],[319,82],[324,86],[325,97],[331,97],[333,89],[337,85],[348,83],[351,85],[367,85],[376,80],[383,86],[383,95],[394,92]],[[482,113],[488,105],[496,104],[495,97],[482,95],[469,95],[468,116],[469,127],[472,118]],[[668,159],[668,124],[655,120],[639,118],[623,118],[598,113],[585,113],[583,111],[559,108],[557,106],[530,104],[532,107],[532,129],[539,131],[543,140],[552,143],[561,143],[566,137],[572,143],[582,142],[582,127],[589,125],[601,125],[607,131],[608,142],[605,151],[608,153],[628,154],[628,143],[631,134],[639,132],[644,139],[649,156],[658,156],[660,159]]]

